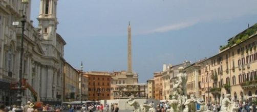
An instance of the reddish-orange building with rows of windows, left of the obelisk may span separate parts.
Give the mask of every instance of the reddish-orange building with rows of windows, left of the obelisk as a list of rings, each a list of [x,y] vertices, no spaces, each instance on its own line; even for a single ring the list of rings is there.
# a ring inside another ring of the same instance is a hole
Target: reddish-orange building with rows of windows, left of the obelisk
[[[88,77],[88,99],[92,101],[111,99],[111,77],[109,72],[90,71],[84,73]]]

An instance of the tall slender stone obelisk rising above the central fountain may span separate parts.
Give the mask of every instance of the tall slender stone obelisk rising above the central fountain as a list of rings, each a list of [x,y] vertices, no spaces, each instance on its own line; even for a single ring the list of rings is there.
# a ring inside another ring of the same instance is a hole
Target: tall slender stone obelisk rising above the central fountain
[[[132,74],[131,26],[127,27],[127,73]]]

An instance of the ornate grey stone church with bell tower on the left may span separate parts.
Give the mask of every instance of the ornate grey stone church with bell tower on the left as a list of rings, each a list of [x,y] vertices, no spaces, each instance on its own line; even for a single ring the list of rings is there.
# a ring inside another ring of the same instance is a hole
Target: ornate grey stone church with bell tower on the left
[[[16,101],[16,92],[13,90],[16,91],[19,76],[22,29],[12,26],[12,22],[20,21],[25,14],[22,80],[23,85],[27,86],[22,100],[24,103],[30,100],[60,104],[63,97],[63,54],[66,42],[56,33],[57,0],[40,2],[38,28],[30,21],[31,4],[22,5],[21,2],[0,2],[0,84],[11,85],[10,88],[0,88],[1,100],[6,105]]]

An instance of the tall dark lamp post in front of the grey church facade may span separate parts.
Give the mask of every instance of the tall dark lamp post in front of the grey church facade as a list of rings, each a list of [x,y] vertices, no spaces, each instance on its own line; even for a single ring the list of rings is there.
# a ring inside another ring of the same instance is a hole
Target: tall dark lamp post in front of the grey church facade
[[[26,5],[29,4],[28,0],[22,0],[22,5]],[[26,8],[26,6],[25,6]],[[25,22],[26,22],[26,16],[24,12],[24,9],[21,10],[22,11],[22,20],[20,20],[20,22],[22,22],[22,40],[21,40],[21,46],[20,46],[20,60],[19,60],[19,82],[18,82],[18,90],[17,90],[17,108],[15,109],[16,112],[22,112],[22,73],[23,73],[23,39],[24,39],[24,31],[25,31]],[[26,10],[25,10],[26,11]]]

